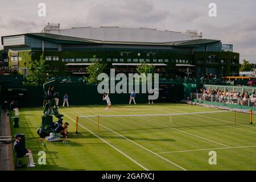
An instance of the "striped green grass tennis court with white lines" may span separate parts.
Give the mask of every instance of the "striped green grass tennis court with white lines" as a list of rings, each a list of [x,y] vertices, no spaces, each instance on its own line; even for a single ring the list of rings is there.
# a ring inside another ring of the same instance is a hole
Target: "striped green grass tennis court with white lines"
[[[69,122],[67,143],[37,143],[42,107],[20,108],[20,127],[26,147],[46,151],[46,165],[23,170],[255,170],[256,126],[250,115],[234,112],[156,115],[137,117],[79,118],[81,115],[144,115],[220,111],[185,104],[105,105],[60,107]],[[217,164],[210,165],[209,151],[216,151]]]

